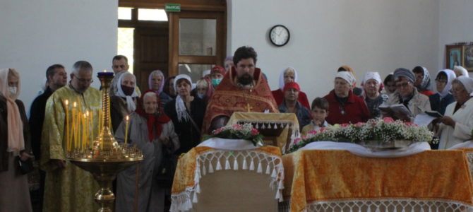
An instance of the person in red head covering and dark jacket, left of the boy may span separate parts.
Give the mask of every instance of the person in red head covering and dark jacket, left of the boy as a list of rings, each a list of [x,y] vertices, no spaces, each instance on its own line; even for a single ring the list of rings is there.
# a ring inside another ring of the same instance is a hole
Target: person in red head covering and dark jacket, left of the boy
[[[284,86],[284,101],[279,105],[279,110],[282,113],[296,114],[297,121],[299,121],[300,129],[311,122],[311,111],[303,107],[297,98],[299,98],[301,88],[296,82],[286,83]]]

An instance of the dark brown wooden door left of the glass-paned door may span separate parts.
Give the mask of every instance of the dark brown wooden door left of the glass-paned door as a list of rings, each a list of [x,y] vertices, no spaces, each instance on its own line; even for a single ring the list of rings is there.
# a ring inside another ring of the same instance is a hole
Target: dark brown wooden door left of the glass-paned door
[[[156,23],[153,27],[137,27],[134,35],[135,60],[133,71],[140,90],[148,90],[148,76],[160,69],[168,75],[169,26]]]

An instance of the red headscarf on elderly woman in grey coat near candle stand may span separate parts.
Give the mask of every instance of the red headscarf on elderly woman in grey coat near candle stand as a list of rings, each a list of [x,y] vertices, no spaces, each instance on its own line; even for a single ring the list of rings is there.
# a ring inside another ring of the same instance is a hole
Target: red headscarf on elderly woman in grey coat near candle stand
[[[159,138],[161,136],[162,132],[162,124],[166,124],[167,122],[170,122],[171,119],[167,117],[166,114],[162,111],[160,107],[157,108],[157,113],[156,114],[148,114],[145,112],[145,107],[144,107],[144,99],[145,99],[145,94],[146,93],[155,93],[156,99],[157,99],[157,105],[160,105],[160,95],[158,95],[155,90],[145,90],[145,92],[141,95],[140,99],[138,100],[138,107],[136,108],[135,112],[140,114],[141,117],[144,117],[145,119],[148,120],[148,138],[150,139],[150,142],[152,142],[152,139]],[[155,126],[156,130],[156,135],[153,134],[153,126]]]

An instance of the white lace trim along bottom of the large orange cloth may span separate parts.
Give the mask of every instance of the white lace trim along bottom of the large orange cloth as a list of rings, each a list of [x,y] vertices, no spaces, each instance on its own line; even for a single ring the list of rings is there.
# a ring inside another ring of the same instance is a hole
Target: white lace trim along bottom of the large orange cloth
[[[279,204],[280,212],[290,210],[290,199]],[[442,212],[442,211],[473,211],[473,206],[457,201],[418,200],[418,199],[378,199],[378,200],[343,200],[313,201],[307,204],[304,211],[349,211],[349,212]]]

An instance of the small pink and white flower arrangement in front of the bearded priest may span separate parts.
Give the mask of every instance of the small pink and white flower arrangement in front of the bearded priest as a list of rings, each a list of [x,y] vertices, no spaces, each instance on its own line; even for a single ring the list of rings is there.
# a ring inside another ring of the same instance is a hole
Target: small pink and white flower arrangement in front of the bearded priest
[[[263,135],[259,133],[258,129],[253,128],[250,123],[222,126],[212,131],[210,135],[203,135],[203,141],[210,138],[244,139],[251,141],[254,146],[263,146]]]

